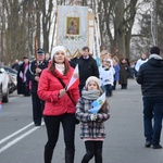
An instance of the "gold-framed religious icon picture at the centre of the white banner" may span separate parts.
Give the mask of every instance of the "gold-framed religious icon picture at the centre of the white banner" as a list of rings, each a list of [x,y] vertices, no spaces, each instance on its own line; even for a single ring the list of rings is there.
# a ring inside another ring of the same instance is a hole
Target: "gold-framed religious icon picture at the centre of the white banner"
[[[66,34],[67,35],[79,35],[79,17],[67,17]]]

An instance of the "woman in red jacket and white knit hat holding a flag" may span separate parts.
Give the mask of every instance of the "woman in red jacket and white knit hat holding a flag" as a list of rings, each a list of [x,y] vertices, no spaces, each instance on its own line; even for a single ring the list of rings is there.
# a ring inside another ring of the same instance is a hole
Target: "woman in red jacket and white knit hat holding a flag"
[[[45,146],[45,163],[51,163],[61,123],[65,142],[65,163],[74,163],[75,105],[79,99],[79,92],[78,87],[68,90],[68,93],[65,90],[73,72],[65,57],[65,48],[54,47],[51,52],[51,62],[40,76],[37,91],[39,98],[46,101],[43,117],[48,142]]]

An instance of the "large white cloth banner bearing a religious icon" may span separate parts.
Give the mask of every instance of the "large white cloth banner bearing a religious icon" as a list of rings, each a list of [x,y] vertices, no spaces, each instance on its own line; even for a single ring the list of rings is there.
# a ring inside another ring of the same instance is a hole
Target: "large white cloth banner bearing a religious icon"
[[[88,46],[88,7],[58,7],[57,45],[74,54]]]

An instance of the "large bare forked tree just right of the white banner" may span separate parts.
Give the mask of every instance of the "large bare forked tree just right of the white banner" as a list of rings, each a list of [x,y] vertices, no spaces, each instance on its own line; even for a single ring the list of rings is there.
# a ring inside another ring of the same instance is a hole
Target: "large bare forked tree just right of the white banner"
[[[104,35],[108,35],[110,51],[113,54],[129,58],[129,46],[131,28],[136,15],[138,0],[101,0],[101,23],[105,27]],[[103,30],[103,29],[102,29]]]

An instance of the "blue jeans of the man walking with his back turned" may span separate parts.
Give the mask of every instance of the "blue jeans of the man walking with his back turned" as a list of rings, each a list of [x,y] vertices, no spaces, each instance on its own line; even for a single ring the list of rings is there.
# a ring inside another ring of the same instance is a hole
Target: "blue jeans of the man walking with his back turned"
[[[163,120],[163,97],[143,97],[142,100],[146,140],[159,145]]]

